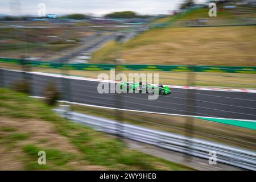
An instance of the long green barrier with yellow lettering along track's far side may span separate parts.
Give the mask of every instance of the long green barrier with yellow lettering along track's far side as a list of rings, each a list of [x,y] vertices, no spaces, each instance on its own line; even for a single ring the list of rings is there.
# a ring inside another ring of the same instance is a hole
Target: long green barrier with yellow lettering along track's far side
[[[169,71],[169,72],[222,72],[222,73],[256,73],[256,67],[228,67],[228,66],[208,66],[208,65],[134,65],[134,64],[66,64],[46,61],[22,61],[19,59],[10,59],[0,57],[0,63],[27,64],[31,67],[71,69],[85,71],[104,71],[111,68],[130,71]]]

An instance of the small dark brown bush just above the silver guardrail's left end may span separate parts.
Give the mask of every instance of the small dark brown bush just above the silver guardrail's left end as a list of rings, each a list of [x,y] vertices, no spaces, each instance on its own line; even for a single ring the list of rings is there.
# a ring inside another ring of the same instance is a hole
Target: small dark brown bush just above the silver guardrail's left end
[[[44,90],[44,97],[46,97],[46,103],[51,106],[55,105],[56,101],[59,100],[60,93],[54,82],[49,82],[46,86],[46,90]]]

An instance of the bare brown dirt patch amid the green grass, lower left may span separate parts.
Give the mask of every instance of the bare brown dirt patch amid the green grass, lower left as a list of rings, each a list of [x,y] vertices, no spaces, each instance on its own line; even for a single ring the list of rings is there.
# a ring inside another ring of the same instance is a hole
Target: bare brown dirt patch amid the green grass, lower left
[[[7,118],[0,117],[0,129],[14,128],[15,131],[0,131],[0,138],[8,134],[21,133],[27,134],[28,138],[15,142],[13,146],[0,143],[0,170],[20,170],[24,169],[24,160],[26,154],[22,151],[22,147],[28,144],[36,144],[42,148],[55,148],[63,152],[71,152],[77,156],[82,153],[77,150],[68,138],[58,134],[53,123],[49,123],[37,119],[27,118]],[[103,170],[101,166],[91,166],[85,160],[69,162],[67,164],[71,169],[76,170]]]

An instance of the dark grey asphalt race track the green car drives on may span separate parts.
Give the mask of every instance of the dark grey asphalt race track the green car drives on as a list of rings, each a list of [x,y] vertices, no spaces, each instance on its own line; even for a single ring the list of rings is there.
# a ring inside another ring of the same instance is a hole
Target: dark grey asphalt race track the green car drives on
[[[2,70],[1,86],[10,86],[14,81],[22,80],[22,72]],[[55,82],[64,94],[63,100],[82,104],[117,107],[115,94],[97,92],[99,82],[73,80],[51,76],[32,75],[34,82],[32,96],[43,96],[48,82]],[[122,108],[204,117],[220,117],[256,120],[256,94],[245,92],[222,92],[193,90],[195,97],[187,102],[187,89],[172,88],[172,93],[159,96],[157,100],[148,100],[147,94],[122,94]],[[193,105],[193,112],[187,112],[187,103]]]

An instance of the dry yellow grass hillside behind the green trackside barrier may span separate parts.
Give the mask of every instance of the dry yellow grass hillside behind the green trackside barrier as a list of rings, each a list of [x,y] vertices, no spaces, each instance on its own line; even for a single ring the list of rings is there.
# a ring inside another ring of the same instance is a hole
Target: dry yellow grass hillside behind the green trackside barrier
[[[157,28],[93,55],[109,63],[115,55],[131,64],[256,65],[255,26]],[[119,53],[117,53],[119,52]]]

